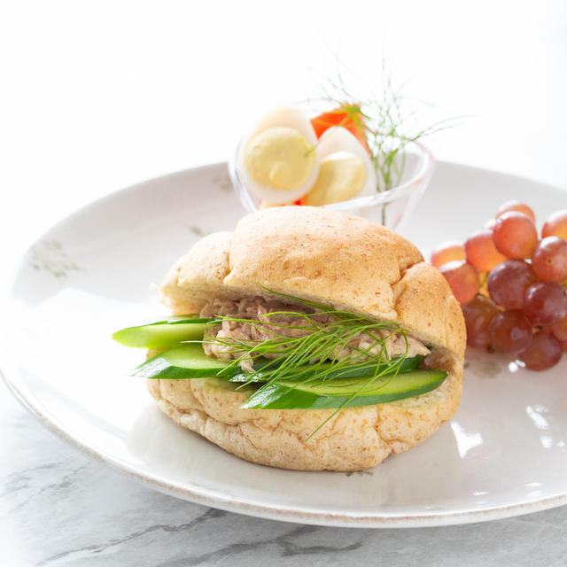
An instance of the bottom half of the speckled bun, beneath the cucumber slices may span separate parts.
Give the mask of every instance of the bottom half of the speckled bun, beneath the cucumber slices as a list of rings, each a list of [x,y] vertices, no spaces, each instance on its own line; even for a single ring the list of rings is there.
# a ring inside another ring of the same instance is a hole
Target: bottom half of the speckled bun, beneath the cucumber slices
[[[159,408],[176,423],[246,461],[291,470],[363,470],[427,439],[461,400],[462,361],[428,357],[448,371],[432,392],[391,403],[334,410],[242,409],[249,393],[215,378],[147,380]]]

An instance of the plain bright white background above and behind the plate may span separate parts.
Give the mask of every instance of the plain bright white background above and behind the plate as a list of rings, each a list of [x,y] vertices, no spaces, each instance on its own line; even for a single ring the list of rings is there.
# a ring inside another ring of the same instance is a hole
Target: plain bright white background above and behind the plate
[[[50,1],[0,15],[4,260],[93,198],[227,159],[261,110],[319,94],[337,58],[370,83],[385,58],[439,117],[467,116],[429,140],[438,159],[567,187],[561,1]]]

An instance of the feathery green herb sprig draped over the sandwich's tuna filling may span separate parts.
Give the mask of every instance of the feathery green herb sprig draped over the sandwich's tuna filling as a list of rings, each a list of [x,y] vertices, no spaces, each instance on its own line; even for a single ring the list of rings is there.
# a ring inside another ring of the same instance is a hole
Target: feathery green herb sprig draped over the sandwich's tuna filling
[[[258,384],[258,378],[261,376],[262,385],[252,394],[247,403],[252,403],[255,397],[261,397],[271,384],[278,381],[285,380],[286,384],[290,384],[290,381],[295,384],[324,382],[346,375],[348,369],[352,369],[353,365],[361,364],[361,362],[374,368],[374,373],[368,378],[365,385],[372,384],[381,377],[385,377],[385,385],[398,374],[408,356],[407,334],[396,323],[371,321],[352,312],[334,309],[276,291],[268,291],[284,299],[307,305],[314,309],[314,313],[280,310],[259,315],[258,319],[217,316],[219,322],[244,323],[257,330],[263,330],[268,334],[268,338],[260,342],[242,338],[205,337],[203,339],[205,344],[226,346],[234,353],[241,353],[229,364],[226,369],[227,374],[233,374],[235,367],[250,358],[258,360],[265,359],[267,355],[273,357],[262,364],[260,369],[245,375],[245,381],[238,386],[243,388],[248,384]],[[320,322],[322,315],[326,315],[330,321]],[[270,320],[278,317],[292,317],[294,322],[285,324]],[[299,331],[300,336],[290,337],[283,330]],[[404,338],[405,352],[392,358],[386,349],[386,342],[398,333]],[[368,338],[369,346],[361,348],[351,344],[353,338],[360,335]],[[351,352],[339,358],[346,348]],[[292,390],[293,386],[290,386],[290,392]],[[341,408],[344,408],[358,393],[353,392]],[[315,435],[325,423],[337,415],[341,408],[333,412],[309,437]]]

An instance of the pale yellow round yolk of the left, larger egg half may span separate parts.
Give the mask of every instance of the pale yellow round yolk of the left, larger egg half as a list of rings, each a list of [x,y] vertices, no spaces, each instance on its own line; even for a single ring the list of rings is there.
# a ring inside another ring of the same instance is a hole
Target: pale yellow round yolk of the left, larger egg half
[[[294,190],[313,172],[315,150],[298,130],[278,126],[252,138],[244,162],[254,181],[275,189]]]

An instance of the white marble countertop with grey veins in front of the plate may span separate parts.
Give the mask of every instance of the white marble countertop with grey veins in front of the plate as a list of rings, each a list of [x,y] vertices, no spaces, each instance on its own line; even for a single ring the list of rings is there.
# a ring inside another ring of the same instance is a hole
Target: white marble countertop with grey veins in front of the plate
[[[565,565],[567,506],[485,524],[290,524],[177,500],[66,445],[0,383],[0,564]]]

